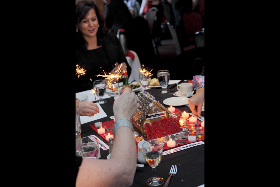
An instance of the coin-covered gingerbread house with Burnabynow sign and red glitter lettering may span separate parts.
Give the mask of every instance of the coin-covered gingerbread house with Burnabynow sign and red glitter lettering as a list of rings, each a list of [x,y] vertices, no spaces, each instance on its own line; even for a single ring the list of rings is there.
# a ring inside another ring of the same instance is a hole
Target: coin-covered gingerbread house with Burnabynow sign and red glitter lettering
[[[164,137],[181,131],[178,118],[170,117],[171,112],[155,100],[150,93],[142,90],[137,95],[139,108],[132,117],[134,127],[147,139]]]

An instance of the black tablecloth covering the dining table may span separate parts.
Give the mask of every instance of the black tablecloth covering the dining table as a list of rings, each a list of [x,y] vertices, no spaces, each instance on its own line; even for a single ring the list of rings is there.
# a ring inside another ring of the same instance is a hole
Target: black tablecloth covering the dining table
[[[171,85],[172,86],[172,85]],[[168,87],[171,87],[170,85]],[[167,87],[167,89],[168,89]],[[163,104],[163,100],[169,97],[174,97],[172,94],[162,94],[160,93],[161,88],[153,88],[147,90],[153,96],[156,97],[156,100]],[[177,91],[176,87],[169,90],[170,92]],[[137,93],[136,93],[137,94]],[[108,115],[105,118],[99,119],[97,121],[106,122],[110,121],[111,118],[109,116],[113,116],[113,98],[105,99],[108,102],[104,105],[101,105],[105,113]],[[166,106],[167,107],[167,106]],[[190,108],[187,106],[176,106],[181,111],[191,112]],[[202,112],[202,116],[204,116],[204,112]],[[82,133],[81,137],[90,136],[95,134],[100,139],[99,136],[93,129],[90,128],[90,124],[94,124],[94,122],[88,122],[82,125]],[[107,141],[104,141],[107,143]],[[108,143],[107,143],[108,144]],[[106,159],[108,150],[104,151],[100,149],[101,159]],[[165,155],[162,157],[162,161],[156,167],[157,176],[161,176],[164,178],[164,181],[167,180],[169,170],[172,165],[178,165],[177,174],[171,177],[169,187],[178,187],[178,186],[188,186],[188,187],[196,187],[204,184],[204,144],[200,146],[195,146],[192,148],[188,148],[182,151],[178,151],[176,153],[172,153],[169,155]],[[146,180],[153,176],[152,168],[149,165],[145,165],[145,167],[137,167],[136,174],[134,177],[134,182],[132,186],[148,186],[146,184]],[[161,185],[163,186],[163,185]]]

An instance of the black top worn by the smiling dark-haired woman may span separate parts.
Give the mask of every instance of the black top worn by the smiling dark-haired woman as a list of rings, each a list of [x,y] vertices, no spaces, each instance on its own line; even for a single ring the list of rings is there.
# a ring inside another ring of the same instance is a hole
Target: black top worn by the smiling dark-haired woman
[[[76,93],[92,89],[94,80],[104,79],[103,77],[97,77],[97,75],[104,75],[103,70],[107,73],[111,72],[115,63],[120,64],[122,62],[127,64],[127,72],[130,75],[131,68],[122,51],[120,41],[113,33],[104,35],[101,48],[87,50],[85,46],[76,46],[75,69],[76,64],[79,64],[80,67],[84,66],[86,69],[85,75],[80,76],[80,78],[76,75]]]

